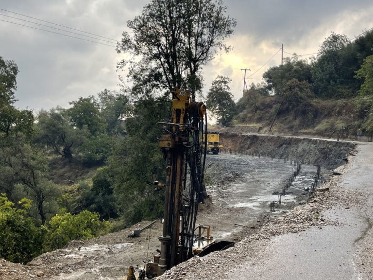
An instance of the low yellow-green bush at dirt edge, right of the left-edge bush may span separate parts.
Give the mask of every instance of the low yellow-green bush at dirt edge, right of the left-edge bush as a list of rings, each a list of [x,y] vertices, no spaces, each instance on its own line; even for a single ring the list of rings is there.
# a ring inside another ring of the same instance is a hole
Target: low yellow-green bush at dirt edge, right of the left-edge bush
[[[106,233],[109,226],[109,222],[100,221],[99,214],[88,210],[76,215],[55,215],[45,226],[44,246],[48,251],[62,248],[70,240],[88,239]]]

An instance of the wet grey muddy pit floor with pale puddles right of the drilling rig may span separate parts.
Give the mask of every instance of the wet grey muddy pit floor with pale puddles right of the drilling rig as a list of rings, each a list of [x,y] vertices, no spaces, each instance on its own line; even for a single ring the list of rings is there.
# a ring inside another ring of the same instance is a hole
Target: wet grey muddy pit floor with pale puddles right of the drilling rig
[[[211,181],[207,186],[214,205],[222,212],[214,228],[214,237],[223,239],[239,231],[241,226],[250,225],[259,215],[270,213],[270,202],[278,201],[285,181],[296,170],[296,164],[284,159],[251,157],[245,155],[219,154],[207,156],[207,173]],[[316,167],[302,165],[301,173],[295,178],[287,194],[281,197],[282,204],[275,208],[277,214],[306,200],[306,188],[310,188],[316,175]],[[224,213],[224,210],[227,213]],[[206,218],[208,222],[208,218]],[[205,222],[205,223],[206,223]]]

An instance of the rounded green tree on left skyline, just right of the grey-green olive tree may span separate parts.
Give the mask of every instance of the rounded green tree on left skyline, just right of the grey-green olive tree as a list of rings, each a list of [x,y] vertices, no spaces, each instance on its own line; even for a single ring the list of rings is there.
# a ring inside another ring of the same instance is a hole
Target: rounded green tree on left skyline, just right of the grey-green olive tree
[[[67,114],[73,127],[83,129],[86,126],[91,135],[104,132],[105,120],[100,114],[99,103],[93,96],[80,97],[69,104],[72,107],[67,110]]]

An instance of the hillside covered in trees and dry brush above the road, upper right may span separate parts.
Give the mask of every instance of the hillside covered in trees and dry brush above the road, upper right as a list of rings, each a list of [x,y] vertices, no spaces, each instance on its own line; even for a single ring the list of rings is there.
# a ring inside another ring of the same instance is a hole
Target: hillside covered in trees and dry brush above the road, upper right
[[[332,33],[310,61],[293,54],[237,102],[231,124],[325,136],[372,136],[373,31],[350,41]],[[281,105],[281,106],[280,106]]]

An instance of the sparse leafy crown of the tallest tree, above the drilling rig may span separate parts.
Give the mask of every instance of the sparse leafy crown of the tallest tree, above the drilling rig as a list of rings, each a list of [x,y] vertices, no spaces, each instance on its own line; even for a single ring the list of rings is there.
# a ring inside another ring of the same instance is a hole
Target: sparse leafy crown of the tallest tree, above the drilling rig
[[[224,39],[233,34],[236,21],[226,16],[222,0],[152,0],[140,16],[127,22],[134,35],[123,33],[118,52],[140,58],[128,63],[136,85],[152,84],[167,90],[188,88],[192,99],[201,86],[199,71],[218,49],[229,51]]]

